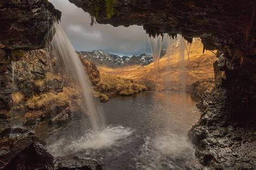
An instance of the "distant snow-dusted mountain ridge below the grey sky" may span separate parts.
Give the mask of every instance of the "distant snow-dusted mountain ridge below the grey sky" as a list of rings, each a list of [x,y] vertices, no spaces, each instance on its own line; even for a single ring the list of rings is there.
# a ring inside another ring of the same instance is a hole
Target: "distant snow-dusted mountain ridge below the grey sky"
[[[90,60],[96,65],[105,65],[109,67],[131,66],[131,65],[148,65],[153,62],[153,56],[143,53],[140,56],[120,57],[103,50],[94,50],[92,52],[79,52],[86,60]]]

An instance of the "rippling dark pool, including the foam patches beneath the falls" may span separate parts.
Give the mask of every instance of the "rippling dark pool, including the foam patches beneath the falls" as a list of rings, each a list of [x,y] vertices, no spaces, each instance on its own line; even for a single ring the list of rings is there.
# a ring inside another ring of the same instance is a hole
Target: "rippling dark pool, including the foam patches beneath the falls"
[[[187,132],[200,117],[187,95],[140,93],[102,103],[107,127],[81,132],[80,120],[44,132],[53,155],[93,159],[103,169],[184,169],[194,158]]]

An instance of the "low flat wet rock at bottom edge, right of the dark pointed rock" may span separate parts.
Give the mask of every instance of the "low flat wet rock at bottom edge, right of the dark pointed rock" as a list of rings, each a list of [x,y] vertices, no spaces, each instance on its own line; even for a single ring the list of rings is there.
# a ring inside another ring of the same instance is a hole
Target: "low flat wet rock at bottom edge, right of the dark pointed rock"
[[[96,161],[79,159],[75,155],[68,155],[65,157],[56,157],[54,159],[55,168],[58,170],[64,169],[95,169],[101,170],[102,166],[99,165]]]

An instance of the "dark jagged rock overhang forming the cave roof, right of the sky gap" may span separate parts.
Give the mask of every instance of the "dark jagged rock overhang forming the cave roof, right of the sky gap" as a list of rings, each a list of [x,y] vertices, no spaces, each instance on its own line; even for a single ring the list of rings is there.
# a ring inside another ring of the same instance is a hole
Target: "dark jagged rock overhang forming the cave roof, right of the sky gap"
[[[143,25],[150,36],[177,34],[191,42],[200,37],[205,49],[239,49],[245,55],[255,55],[255,1],[202,0],[69,0],[99,24],[113,26]],[[112,16],[107,16],[112,8]]]

